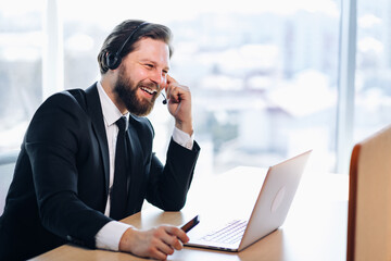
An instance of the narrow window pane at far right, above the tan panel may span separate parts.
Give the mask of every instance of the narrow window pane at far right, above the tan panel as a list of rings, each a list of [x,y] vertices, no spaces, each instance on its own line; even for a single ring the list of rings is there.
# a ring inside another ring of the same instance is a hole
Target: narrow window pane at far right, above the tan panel
[[[391,3],[357,2],[354,139],[391,124]]]

